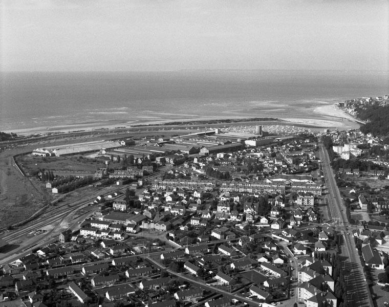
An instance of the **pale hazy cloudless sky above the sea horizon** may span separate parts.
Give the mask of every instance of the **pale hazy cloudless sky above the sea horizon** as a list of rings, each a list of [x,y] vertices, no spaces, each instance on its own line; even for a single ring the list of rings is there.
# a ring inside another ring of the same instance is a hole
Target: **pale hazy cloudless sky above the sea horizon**
[[[386,0],[0,0],[0,71],[388,71]]]

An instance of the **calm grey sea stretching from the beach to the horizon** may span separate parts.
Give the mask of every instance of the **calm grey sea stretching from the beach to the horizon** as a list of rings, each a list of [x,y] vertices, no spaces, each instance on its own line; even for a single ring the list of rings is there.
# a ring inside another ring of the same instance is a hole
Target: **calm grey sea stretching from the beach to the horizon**
[[[312,108],[388,94],[388,77],[357,71],[3,72],[0,131],[320,117]]]

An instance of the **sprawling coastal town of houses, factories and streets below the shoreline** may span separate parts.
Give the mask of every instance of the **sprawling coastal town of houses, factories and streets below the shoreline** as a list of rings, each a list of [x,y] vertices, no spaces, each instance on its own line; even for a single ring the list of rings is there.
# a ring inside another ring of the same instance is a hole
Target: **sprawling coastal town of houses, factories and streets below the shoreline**
[[[388,143],[260,123],[185,130],[14,156],[54,205],[28,233],[4,229],[0,301],[389,305]]]

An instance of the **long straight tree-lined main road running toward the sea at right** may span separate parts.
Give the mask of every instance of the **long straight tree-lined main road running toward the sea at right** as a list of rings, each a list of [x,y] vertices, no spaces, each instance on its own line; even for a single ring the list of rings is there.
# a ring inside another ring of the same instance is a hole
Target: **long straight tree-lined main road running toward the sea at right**
[[[372,306],[373,302],[370,291],[366,287],[366,281],[358,252],[356,251],[353,235],[348,234],[347,228],[349,223],[343,206],[343,200],[336,185],[334,172],[330,165],[330,157],[322,144],[320,145],[319,156],[326,181],[332,220],[336,221],[337,231],[342,234],[342,255],[347,257],[344,261],[344,269],[350,271],[350,274],[345,276],[349,303],[354,306]]]

